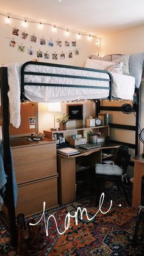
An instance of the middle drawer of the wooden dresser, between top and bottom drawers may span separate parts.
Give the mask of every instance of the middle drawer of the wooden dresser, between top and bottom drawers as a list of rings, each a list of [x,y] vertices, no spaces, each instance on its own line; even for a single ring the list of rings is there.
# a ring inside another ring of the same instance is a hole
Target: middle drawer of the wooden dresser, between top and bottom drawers
[[[43,160],[15,166],[16,182],[25,183],[57,174],[56,160]]]

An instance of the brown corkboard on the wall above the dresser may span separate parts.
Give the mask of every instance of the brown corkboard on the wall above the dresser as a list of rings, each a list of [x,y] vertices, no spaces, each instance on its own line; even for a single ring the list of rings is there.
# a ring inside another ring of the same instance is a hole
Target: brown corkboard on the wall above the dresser
[[[17,129],[10,124],[10,137],[30,135],[38,131],[37,103],[21,103],[21,125]],[[35,122],[30,122],[34,117]],[[32,128],[34,127],[34,128]]]

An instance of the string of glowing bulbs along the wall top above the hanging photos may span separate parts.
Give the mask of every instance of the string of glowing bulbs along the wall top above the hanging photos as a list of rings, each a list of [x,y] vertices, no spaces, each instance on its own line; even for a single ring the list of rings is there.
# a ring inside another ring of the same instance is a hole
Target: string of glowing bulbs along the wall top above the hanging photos
[[[68,29],[66,29],[64,27],[59,27],[59,26],[56,26],[56,25],[54,26],[54,25],[52,25],[50,23],[40,23],[38,21],[28,21],[28,20],[25,21],[24,19],[15,18],[14,16],[7,16],[7,15],[5,15],[3,13],[0,13],[0,15],[6,17],[6,21],[5,22],[7,24],[10,23],[10,19],[14,19],[14,20],[23,21],[25,23],[25,25],[28,24],[28,23],[33,23],[33,24],[39,24],[41,27],[42,27],[42,25],[51,26],[52,27],[52,31],[54,31],[54,32],[56,32],[57,29],[61,29],[61,30],[65,31],[65,32],[71,32],[71,33],[77,34],[77,38],[79,38],[79,39],[81,38],[81,35],[84,35],[84,36],[87,36],[87,37],[91,37],[91,38],[96,38],[96,44],[97,45],[99,44],[99,40],[97,39],[98,37],[96,37],[96,35],[87,35],[85,33],[81,33],[80,34],[78,31],[73,31],[73,30],[70,30],[70,29],[68,30]]]

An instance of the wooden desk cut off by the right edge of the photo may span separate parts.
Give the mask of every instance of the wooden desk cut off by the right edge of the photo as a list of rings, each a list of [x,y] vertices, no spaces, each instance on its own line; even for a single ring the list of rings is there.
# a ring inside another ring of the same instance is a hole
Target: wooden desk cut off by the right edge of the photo
[[[141,155],[134,156],[134,183],[132,191],[132,207],[138,208],[141,201],[141,184],[144,175],[144,158]]]

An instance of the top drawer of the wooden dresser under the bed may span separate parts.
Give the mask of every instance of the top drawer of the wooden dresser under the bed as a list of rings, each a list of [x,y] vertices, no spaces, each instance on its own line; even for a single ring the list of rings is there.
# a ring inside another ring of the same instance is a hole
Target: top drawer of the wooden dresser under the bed
[[[12,154],[14,166],[42,160],[56,161],[56,144],[12,148]]]

